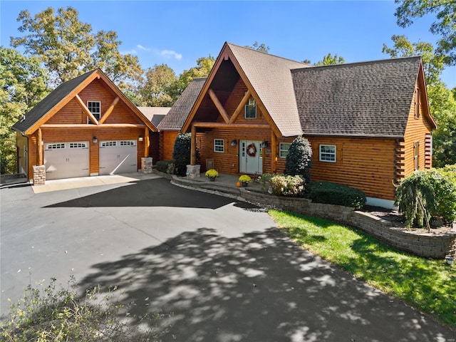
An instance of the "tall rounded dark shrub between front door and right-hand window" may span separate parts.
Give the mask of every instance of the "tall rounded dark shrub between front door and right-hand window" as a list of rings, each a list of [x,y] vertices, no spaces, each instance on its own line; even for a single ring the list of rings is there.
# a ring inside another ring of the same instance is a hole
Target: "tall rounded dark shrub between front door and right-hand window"
[[[311,179],[309,170],[312,166],[311,143],[306,138],[299,136],[291,142],[286,155],[285,175],[299,175],[306,182]]]

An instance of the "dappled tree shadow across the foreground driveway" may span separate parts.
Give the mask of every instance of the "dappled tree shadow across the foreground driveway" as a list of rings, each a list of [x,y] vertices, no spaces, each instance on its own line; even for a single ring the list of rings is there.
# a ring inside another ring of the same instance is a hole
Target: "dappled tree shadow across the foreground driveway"
[[[183,232],[93,265],[81,286],[118,285],[135,314],[170,318],[163,341],[454,341],[452,331],[356,281],[278,229]]]

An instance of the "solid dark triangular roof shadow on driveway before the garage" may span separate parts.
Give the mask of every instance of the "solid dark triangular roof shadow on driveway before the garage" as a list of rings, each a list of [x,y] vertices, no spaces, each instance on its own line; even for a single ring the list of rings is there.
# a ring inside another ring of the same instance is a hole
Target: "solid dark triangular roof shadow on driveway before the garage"
[[[170,184],[169,180],[141,180],[122,187],[105,190],[94,195],[78,197],[66,202],[51,204],[45,208],[58,207],[180,207],[217,209],[233,199],[214,196],[206,192],[184,189]],[[235,201],[237,207],[257,208],[252,204]]]

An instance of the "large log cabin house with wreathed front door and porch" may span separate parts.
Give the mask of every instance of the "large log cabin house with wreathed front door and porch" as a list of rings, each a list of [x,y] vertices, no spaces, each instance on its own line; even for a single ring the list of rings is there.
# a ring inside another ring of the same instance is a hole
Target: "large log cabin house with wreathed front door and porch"
[[[207,78],[195,79],[159,125],[160,159],[192,133],[219,172],[284,171],[296,136],[311,142],[314,181],[363,190],[392,207],[395,186],[432,167],[436,128],[420,57],[309,66],[225,43]],[[203,171],[202,170],[202,171]]]

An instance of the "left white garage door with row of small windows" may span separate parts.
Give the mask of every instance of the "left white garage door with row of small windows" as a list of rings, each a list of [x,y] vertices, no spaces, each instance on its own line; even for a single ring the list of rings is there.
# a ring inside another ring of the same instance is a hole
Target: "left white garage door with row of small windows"
[[[46,143],[44,165],[46,180],[87,177],[90,173],[88,141]]]

